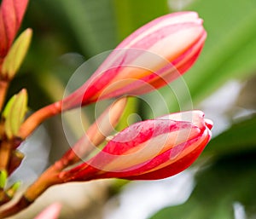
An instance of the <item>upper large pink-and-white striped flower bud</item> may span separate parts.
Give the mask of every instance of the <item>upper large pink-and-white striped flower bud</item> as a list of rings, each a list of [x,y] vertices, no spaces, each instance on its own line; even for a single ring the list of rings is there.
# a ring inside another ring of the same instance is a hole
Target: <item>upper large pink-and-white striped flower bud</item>
[[[149,22],[125,38],[91,78],[62,101],[62,109],[159,89],[192,66],[206,36],[195,12],[167,14]]]

